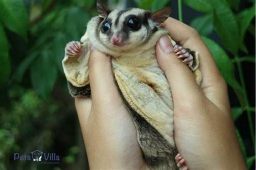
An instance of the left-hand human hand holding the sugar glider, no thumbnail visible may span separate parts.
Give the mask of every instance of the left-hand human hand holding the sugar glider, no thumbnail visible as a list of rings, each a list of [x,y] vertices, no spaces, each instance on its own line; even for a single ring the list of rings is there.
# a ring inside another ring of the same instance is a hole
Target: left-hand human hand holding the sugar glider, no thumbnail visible
[[[76,98],[90,169],[147,169],[136,128],[118,93],[111,58],[93,50],[89,59],[92,98]]]

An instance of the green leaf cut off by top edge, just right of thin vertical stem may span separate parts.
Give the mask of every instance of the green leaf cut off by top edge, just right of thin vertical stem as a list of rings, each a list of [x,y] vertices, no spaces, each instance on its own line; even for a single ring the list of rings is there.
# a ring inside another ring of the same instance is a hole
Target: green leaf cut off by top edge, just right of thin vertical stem
[[[212,7],[208,0],[183,0],[190,8],[199,12],[212,12]]]

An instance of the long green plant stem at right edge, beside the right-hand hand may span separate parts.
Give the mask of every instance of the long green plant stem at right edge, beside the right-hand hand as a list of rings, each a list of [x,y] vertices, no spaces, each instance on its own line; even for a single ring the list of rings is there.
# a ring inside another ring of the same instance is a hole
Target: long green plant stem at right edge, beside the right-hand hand
[[[242,85],[242,90],[243,90],[244,97],[245,97],[245,105],[246,105],[245,107],[246,108],[250,108],[250,104],[249,104],[248,94],[247,94],[247,90],[246,90],[246,86],[245,86],[244,74],[243,74],[240,58],[238,56],[236,56],[235,60],[236,60],[236,63],[237,63],[238,72],[239,72],[239,76],[240,76],[240,81],[241,81],[241,85]],[[252,138],[252,142],[253,142],[253,149],[255,151],[255,136],[254,136],[255,133],[254,133],[254,130],[253,130],[252,115],[251,115],[250,109],[246,109],[246,112],[247,112],[247,117],[248,117],[248,121],[249,121],[251,138]]]

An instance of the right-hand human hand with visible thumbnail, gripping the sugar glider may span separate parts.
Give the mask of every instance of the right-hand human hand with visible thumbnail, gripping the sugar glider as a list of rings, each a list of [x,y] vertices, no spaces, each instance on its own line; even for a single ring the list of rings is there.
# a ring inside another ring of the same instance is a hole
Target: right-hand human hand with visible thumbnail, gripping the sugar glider
[[[181,46],[200,54],[200,86],[193,73],[173,53],[167,37],[156,45],[157,59],[169,81],[174,101],[174,139],[190,170],[246,169],[231,117],[227,85],[215,61],[191,27],[169,18],[162,27]],[[162,50],[162,49],[163,50]]]

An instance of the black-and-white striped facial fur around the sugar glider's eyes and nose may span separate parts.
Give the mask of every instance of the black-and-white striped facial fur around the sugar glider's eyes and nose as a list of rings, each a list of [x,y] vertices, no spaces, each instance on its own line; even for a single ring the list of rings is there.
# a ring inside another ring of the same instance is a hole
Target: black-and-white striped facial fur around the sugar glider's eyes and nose
[[[141,28],[138,31],[132,31],[126,26],[127,18],[131,15],[138,17],[140,20],[145,18],[143,22],[140,21]],[[105,19],[111,21],[110,30],[107,33],[99,31],[99,39],[106,47],[114,50],[132,50],[134,47],[142,45],[149,38],[151,30],[154,29],[154,25],[150,25],[145,15],[146,11],[138,8],[132,8],[128,11],[113,10]],[[122,39],[122,45],[120,46],[111,43],[111,38],[117,34]]]

